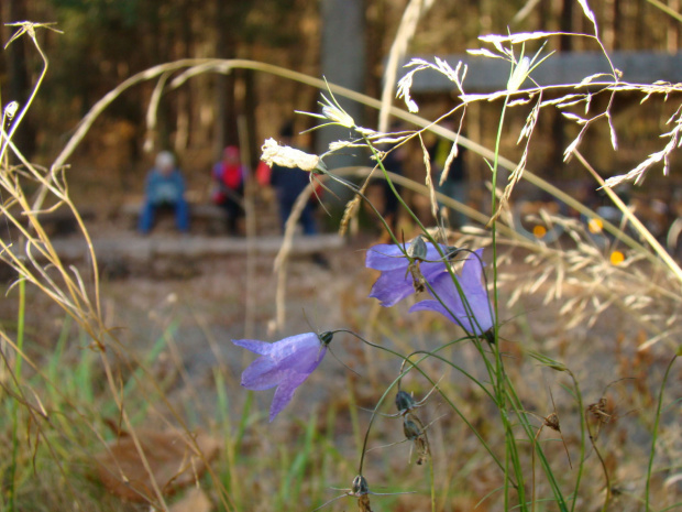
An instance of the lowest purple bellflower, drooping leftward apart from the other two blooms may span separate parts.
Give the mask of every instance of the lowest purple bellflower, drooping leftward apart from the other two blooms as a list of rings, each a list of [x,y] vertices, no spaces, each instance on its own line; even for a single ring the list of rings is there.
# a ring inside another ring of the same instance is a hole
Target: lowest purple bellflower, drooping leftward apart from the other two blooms
[[[306,333],[274,344],[256,339],[232,340],[238,347],[261,356],[242,373],[242,385],[254,391],[277,386],[270,407],[271,422],[292,401],[296,389],[322,362],[332,336],[332,333]]]

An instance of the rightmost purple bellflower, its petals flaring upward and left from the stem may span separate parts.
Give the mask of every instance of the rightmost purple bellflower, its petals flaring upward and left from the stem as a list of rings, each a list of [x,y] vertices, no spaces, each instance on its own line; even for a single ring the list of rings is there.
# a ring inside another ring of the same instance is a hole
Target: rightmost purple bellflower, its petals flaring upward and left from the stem
[[[433,290],[430,293],[433,296],[438,296],[440,302],[435,298],[418,302],[410,307],[410,313],[418,311],[438,312],[449,320],[464,327],[466,333],[487,338],[487,333],[495,325],[495,318],[487,291],[483,284],[482,254],[483,249],[479,249],[470,254],[464,261],[462,275],[459,277],[459,283],[462,293],[466,297],[469,308],[464,306],[450,273],[443,271],[429,280],[429,284]]]

